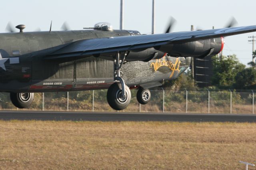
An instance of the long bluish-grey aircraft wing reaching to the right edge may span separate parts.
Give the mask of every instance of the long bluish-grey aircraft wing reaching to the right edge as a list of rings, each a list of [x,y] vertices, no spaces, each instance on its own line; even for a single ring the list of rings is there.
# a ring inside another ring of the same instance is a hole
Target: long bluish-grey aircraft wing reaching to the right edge
[[[249,32],[256,32],[256,26],[79,40],[47,55],[46,59],[84,57],[99,53],[132,51],[134,49],[159,47],[170,43],[193,42]]]

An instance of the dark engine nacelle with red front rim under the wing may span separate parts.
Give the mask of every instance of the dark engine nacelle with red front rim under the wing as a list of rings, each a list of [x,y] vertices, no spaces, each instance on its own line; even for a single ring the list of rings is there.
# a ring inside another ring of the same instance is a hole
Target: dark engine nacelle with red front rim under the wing
[[[187,43],[172,43],[161,45],[157,48],[159,51],[168,53],[173,57],[199,57],[214,56],[224,47],[224,39],[212,38],[208,40],[187,42]]]

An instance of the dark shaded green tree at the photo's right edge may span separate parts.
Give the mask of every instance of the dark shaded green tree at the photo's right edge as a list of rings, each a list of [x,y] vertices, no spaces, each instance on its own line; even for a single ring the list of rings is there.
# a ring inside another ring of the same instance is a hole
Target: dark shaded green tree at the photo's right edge
[[[256,70],[254,67],[239,71],[235,77],[235,89],[255,89],[256,88]]]

